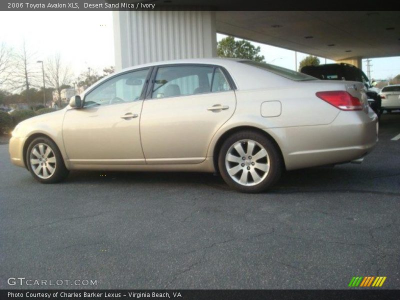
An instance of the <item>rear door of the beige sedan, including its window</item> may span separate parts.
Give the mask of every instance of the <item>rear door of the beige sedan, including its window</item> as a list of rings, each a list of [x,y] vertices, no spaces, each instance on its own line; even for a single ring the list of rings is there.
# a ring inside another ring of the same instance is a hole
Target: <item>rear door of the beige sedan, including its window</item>
[[[228,74],[213,65],[163,65],[152,78],[140,118],[146,163],[203,161],[212,136],[235,109]]]

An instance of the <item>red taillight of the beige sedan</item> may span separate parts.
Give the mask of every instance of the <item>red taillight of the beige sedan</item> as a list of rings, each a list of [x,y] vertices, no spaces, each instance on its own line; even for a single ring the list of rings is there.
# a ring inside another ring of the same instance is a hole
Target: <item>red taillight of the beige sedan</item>
[[[359,99],[344,90],[318,91],[315,95],[341,110],[362,110]]]

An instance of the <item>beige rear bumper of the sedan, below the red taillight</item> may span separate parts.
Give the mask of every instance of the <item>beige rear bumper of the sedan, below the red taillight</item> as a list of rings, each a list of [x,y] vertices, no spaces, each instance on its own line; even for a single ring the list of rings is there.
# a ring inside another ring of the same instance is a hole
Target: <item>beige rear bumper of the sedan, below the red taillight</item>
[[[328,125],[277,128],[287,170],[350,162],[368,154],[378,140],[372,111],[341,111]],[[273,130],[272,130],[273,131]]]

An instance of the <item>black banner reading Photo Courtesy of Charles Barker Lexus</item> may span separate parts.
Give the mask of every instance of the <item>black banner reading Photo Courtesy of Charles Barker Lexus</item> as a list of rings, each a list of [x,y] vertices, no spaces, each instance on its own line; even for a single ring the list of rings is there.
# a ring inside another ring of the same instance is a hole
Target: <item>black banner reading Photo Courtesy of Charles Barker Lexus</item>
[[[133,300],[133,299],[177,299],[177,300],[301,300],[301,299],[399,299],[399,290],[394,289],[348,289],[348,290],[226,290],[226,289],[181,289],[181,290],[129,290],[129,289],[47,289],[47,290],[0,290],[1,300],[10,299],[29,299],[29,300]]]

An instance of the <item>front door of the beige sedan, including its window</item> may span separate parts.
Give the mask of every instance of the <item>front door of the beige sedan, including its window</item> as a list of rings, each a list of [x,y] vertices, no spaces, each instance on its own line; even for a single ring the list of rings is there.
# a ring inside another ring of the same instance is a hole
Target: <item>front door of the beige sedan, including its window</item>
[[[75,164],[143,164],[139,119],[149,69],[111,77],[94,87],[82,108],[65,113],[62,134]]]

